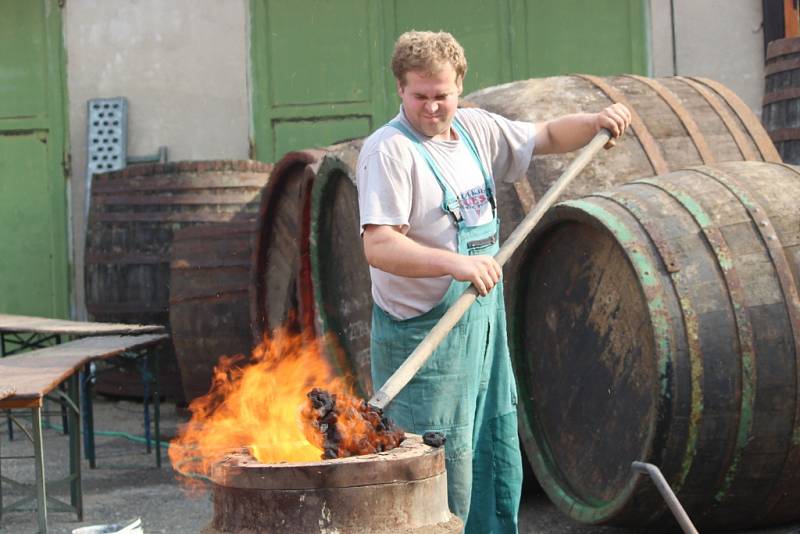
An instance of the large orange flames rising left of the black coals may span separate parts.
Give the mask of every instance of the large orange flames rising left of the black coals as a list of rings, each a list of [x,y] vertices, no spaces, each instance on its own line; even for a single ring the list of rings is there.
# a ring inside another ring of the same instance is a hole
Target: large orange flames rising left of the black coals
[[[173,468],[207,476],[211,466],[246,447],[258,461],[318,461],[322,449],[309,442],[301,417],[312,388],[352,396],[346,379],[334,377],[308,336],[279,329],[244,356],[222,356],[211,389],[189,404],[191,420],[170,443]]]

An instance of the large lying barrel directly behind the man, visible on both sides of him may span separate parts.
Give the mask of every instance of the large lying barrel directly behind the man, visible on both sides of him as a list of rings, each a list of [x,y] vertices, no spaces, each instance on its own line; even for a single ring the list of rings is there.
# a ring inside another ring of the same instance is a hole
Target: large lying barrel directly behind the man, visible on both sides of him
[[[596,156],[567,197],[687,165],[780,158],[752,112],[724,86],[688,78],[563,76],[514,82],[466,97],[473,105],[516,120],[540,121],[599,111],[622,101],[634,112],[632,131]],[[372,391],[369,334],[372,298],[359,238],[353,176],[357,146],[329,153],[314,182],[311,209],[311,287],[319,331],[332,332],[342,372]],[[525,177],[497,182],[505,239],[555,181],[574,154],[534,157]],[[334,245],[335,243],[335,245]],[[505,271],[506,295],[515,291],[516,258]]]

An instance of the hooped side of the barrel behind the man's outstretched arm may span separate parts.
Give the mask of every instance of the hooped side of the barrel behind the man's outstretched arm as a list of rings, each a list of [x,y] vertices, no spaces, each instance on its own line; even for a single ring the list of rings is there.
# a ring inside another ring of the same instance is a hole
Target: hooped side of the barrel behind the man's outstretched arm
[[[613,150],[592,159],[564,198],[692,165],[780,161],[750,108],[724,85],[704,78],[556,76],[489,87],[465,98],[487,111],[529,122],[596,112],[614,102],[631,109],[630,131]],[[500,204],[504,239],[574,157],[536,156],[527,176],[498,183],[498,194],[506,199]]]

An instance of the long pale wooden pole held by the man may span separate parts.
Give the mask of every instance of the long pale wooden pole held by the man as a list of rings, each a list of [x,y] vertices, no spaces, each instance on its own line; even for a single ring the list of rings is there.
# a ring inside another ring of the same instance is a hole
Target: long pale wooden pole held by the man
[[[508,239],[500,247],[500,250],[495,255],[495,260],[500,266],[508,261],[515,250],[522,244],[531,230],[536,226],[539,220],[555,204],[559,195],[566,189],[570,182],[586,167],[594,155],[611,139],[611,133],[608,130],[600,130],[594,136],[589,144],[587,144],[575,160],[570,163],[569,167],[564,170],[556,183],[553,184],[547,193],[536,203],[536,207],[528,213],[519,226],[508,236]],[[466,313],[467,309],[475,302],[478,296],[478,291],[475,286],[470,285],[464,293],[453,303],[453,305],[445,312],[439,322],[428,332],[428,335],[420,341],[417,348],[414,349],[406,361],[397,368],[389,380],[381,387],[372,398],[369,400],[369,405],[373,408],[384,409],[394,400],[398,393],[408,384],[414,375],[417,374],[420,367],[422,367],[428,358],[430,358],[439,343],[447,336],[448,333],[455,327],[459,319]]]

